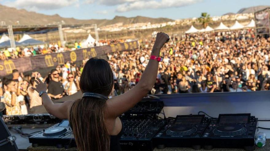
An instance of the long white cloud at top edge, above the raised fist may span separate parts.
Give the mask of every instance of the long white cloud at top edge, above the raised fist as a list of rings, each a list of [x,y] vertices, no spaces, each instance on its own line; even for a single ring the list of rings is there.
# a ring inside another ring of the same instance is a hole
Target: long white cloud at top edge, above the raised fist
[[[201,0],[140,0],[136,2],[129,2],[121,4],[117,7],[117,12],[128,12],[131,10],[140,9],[160,9],[160,8],[171,8],[171,7],[181,7],[186,5],[191,5],[197,3]]]

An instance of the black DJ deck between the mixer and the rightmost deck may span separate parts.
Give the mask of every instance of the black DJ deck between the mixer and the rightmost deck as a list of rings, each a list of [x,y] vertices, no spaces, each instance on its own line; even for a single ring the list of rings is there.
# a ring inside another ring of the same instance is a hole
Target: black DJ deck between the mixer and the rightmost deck
[[[178,115],[169,120],[154,137],[157,148],[192,147],[201,149],[200,138],[207,128],[209,120],[205,115]]]

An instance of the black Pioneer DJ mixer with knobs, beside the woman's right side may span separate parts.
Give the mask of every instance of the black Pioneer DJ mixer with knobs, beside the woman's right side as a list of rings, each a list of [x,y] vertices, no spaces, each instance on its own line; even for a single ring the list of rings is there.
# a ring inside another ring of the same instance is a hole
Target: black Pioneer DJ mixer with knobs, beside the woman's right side
[[[122,150],[152,151],[152,138],[166,124],[165,120],[137,117],[122,119],[124,133],[120,139]]]

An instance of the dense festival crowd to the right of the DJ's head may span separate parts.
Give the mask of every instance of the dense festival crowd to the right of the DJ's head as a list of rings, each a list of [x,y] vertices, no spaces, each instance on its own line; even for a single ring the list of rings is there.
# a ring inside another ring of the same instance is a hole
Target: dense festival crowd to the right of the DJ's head
[[[154,40],[145,39],[138,50],[108,54],[116,75],[115,94],[139,81]],[[270,38],[256,38],[254,29],[172,37],[161,52],[163,63],[149,93],[269,90],[269,49]]]

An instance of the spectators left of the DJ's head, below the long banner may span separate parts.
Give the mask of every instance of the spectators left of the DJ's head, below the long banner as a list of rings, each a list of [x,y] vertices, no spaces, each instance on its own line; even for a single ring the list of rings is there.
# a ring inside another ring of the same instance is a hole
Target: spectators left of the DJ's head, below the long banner
[[[1,102],[4,103],[6,115],[24,115],[33,113],[33,107],[41,106],[42,100],[35,88],[35,79],[38,77],[46,81],[48,95],[53,101],[62,97],[77,93],[79,77],[87,60],[83,60],[80,66],[73,62],[66,62],[63,66],[57,66],[47,76],[41,76],[38,72],[24,75],[18,70],[13,70],[12,78],[3,78],[0,82]],[[2,110],[1,110],[2,109]],[[3,105],[0,112],[3,111]]]

